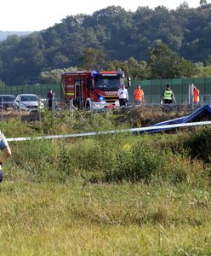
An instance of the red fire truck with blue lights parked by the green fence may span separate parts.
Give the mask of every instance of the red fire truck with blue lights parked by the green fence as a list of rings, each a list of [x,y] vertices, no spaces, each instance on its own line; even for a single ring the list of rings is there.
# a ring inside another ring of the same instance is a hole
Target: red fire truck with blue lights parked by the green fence
[[[78,108],[115,108],[119,105],[117,90],[124,83],[123,72],[83,71],[61,74],[66,102],[73,100]],[[130,86],[127,78],[126,87]]]

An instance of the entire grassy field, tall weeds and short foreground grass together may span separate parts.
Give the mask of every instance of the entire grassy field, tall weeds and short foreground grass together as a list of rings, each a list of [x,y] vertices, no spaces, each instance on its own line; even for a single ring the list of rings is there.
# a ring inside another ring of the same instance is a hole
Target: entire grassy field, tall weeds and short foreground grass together
[[[7,137],[88,131],[79,120],[1,129]],[[87,122],[116,126],[110,115]],[[210,128],[10,144],[1,255],[211,255]]]

